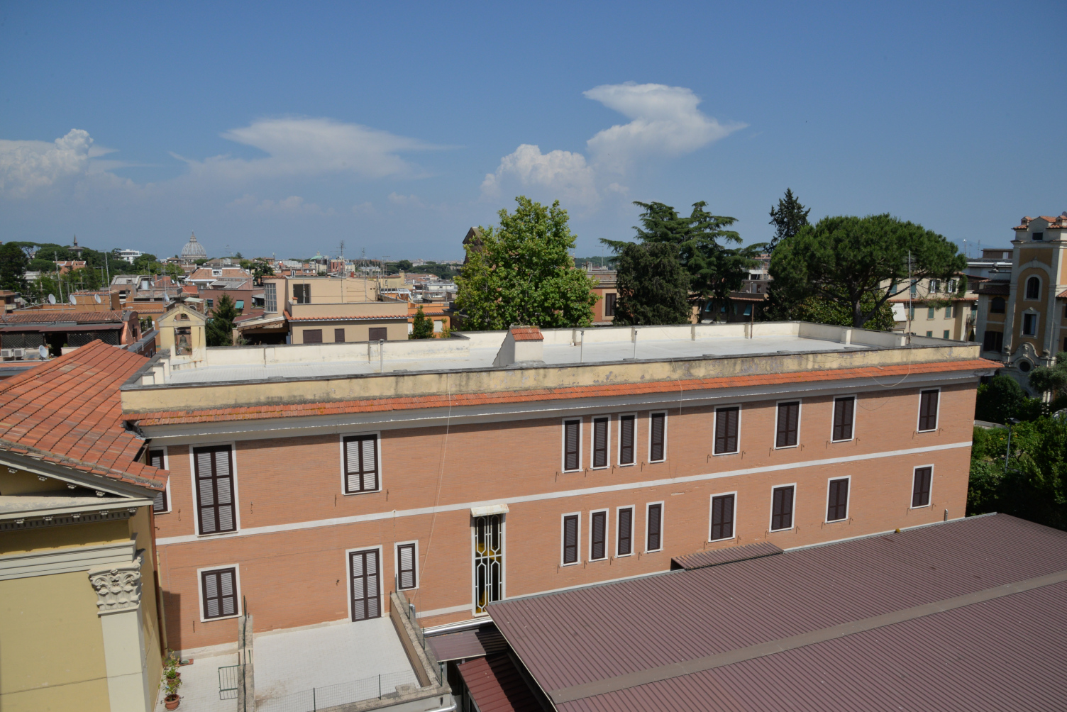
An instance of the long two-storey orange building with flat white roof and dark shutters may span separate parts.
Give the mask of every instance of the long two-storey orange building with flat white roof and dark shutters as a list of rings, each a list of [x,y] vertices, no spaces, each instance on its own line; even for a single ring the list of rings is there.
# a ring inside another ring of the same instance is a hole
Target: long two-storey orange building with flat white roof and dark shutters
[[[245,598],[257,631],[377,618],[391,592],[434,626],[698,551],[964,515],[994,366],[977,344],[803,323],[584,337],[153,359],[123,417],[171,472],[155,521],[172,647],[232,645]],[[208,608],[220,581],[228,603]]]

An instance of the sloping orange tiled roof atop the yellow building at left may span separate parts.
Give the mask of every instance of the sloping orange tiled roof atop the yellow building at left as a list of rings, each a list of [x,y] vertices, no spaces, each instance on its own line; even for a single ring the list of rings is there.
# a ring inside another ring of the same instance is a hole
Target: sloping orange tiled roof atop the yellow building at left
[[[102,341],[0,383],[0,450],[162,489],[166,472],[134,462],[118,387],[147,359]]]

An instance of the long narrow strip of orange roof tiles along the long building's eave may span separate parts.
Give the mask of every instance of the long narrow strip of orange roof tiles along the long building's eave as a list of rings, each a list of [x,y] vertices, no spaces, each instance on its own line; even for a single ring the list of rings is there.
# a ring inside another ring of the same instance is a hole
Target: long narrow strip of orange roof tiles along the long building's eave
[[[638,393],[678,393],[681,391],[770,386],[818,381],[845,381],[850,378],[898,377],[910,374],[947,373],[1000,368],[1000,363],[984,358],[966,361],[939,361],[934,363],[904,363],[895,366],[869,366],[857,369],[826,369],[823,371],[796,371],[686,381],[656,381],[636,384],[609,384],[602,386],[570,386],[537,388],[531,390],[497,391],[495,393],[457,393],[448,395],[404,395],[364,399],[360,401],[332,401],[320,403],[291,403],[252,405],[235,408],[206,408],[203,410],[161,410],[156,412],[127,412],[126,420],[139,425],[174,425],[206,423],[224,420],[266,420],[270,418],[302,418],[352,412],[383,412],[419,408],[463,407],[496,405],[536,401],[566,401],[578,398],[610,398]]]

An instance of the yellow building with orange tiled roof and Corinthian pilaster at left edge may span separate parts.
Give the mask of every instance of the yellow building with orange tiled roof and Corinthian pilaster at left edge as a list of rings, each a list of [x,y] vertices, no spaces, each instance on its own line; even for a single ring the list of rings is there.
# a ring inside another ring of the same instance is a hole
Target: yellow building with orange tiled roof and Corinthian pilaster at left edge
[[[166,472],[122,422],[148,359],[93,341],[0,384],[0,709],[150,712]],[[161,463],[159,463],[161,465]]]

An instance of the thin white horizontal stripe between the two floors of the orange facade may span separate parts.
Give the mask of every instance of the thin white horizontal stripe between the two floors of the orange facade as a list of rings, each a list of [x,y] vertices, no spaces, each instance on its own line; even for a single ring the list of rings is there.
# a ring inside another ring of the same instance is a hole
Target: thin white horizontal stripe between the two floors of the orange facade
[[[765,465],[763,467],[752,467],[744,470],[727,470],[724,472],[711,472],[707,474],[691,474],[684,478],[666,478],[663,480],[649,480],[644,482],[628,482],[618,485],[603,485],[601,487],[588,487],[586,489],[567,489],[558,492],[542,492],[540,495],[523,495],[519,497],[497,497],[482,502],[460,502],[457,504],[442,504],[439,506],[418,507],[415,509],[393,509],[392,512],[376,512],[372,514],[360,514],[351,517],[337,517],[334,519],[317,519],[315,521],[300,521],[288,524],[271,524],[270,527],[251,527],[232,534],[212,534],[210,536],[197,536],[188,534],[184,536],[164,536],[156,540],[159,546],[171,544],[189,544],[200,540],[229,539],[239,536],[254,536],[257,534],[276,534],[278,532],[296,532],[302,529],[317,529],[319,527],[336,527],[338,524],[354,524],[365,521],[380,521],[382,519],[393,519],[395,517],[416,517],[427,514],[441,514],[444,512],[459,512],[476,506],[487,506],[498,504],[506,500],[508,504],[521,504],[523,502],[540,502],[544,500],[564,499],[568,497],[582,497],[584,495],[600,495],[603,492],[619,492],[627,489],[641,489],[642,487],[658,487],[663,485],[678,485],[687,482],[703,482],[705,480],[718,480],[721,478],[735,478],[745,474],[759,474],[762,472],[777,472],[782,470],[794,470],[805,467],[825,467],[827,465],[839,465],[842,463],[858,463],[866,459],[878,459],[881,457],[898,457],[902,455],[918,455],[926,452],[937,452],[939,450],[953,450],[956,448],[970,448],[971,441],[950,442],[946,444],[928,446],[926,448],[910,448],[908,450],[889,450],[885,452],[870,453],[865,455],[848,455],[845,457],[827,457],[825,459],[813,459],[806,463],[785,463],[782,465]]]

